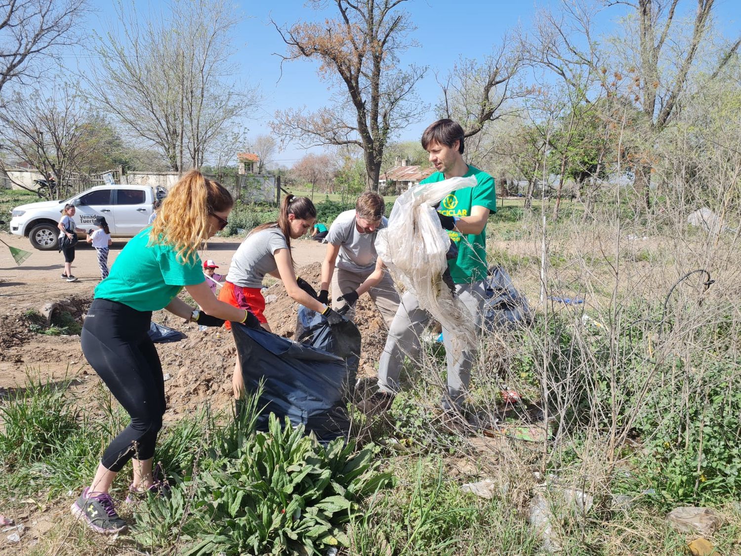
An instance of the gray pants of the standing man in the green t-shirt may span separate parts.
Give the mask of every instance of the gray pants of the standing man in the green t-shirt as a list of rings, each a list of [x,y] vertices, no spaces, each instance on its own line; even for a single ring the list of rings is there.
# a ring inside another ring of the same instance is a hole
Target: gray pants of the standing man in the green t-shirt
[[[484,282],[473,284],[456,284],[456,297],[471,313],[471,318],[479,330],[482,320],[482,309],[485,299]],[[396,316],[388,329],[388,339],[378,367],[379,390],[394,394],[399,391],[399,373],[402,370],[404,356],[416,360],[419,355],[419,336],[430,320],[427,311],[419,308],[419,302],[411,291],[402,296],[402,302],[396,311]],[[445,344],[445,357],[448,363],[448,396],[443,397],[443,406],[450,407],[449,402],[461,406],[468,384],[471,381],[471,366],[476,357],[473,351],[464,351],[454,354],[451,346],[451,334],[442,330]]]

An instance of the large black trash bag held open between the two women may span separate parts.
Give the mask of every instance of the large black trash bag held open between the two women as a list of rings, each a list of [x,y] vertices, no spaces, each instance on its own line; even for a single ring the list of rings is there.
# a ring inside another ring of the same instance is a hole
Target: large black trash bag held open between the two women
[[[262,328],[231,325],[247,392],[258,391],[262,381],[258,430],[268,430],[268,416],[274,413],[294,426],[302,423],[322,443],[348,438],[350,420],[343,401],[348,368],[342,357]]]

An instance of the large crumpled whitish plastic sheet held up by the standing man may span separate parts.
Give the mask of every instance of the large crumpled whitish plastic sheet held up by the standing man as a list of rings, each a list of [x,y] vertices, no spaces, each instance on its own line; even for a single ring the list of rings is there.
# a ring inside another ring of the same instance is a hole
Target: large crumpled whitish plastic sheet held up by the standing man
[[[402,282],[451,334],[453,351],[462,353],[476,345],[476,327],[471,314],[445,284],[448,268],[445,254],[451,241],[440,227],[435,206],[452,191],[476,186],[476,178],[451,178],[416,185],[393,204],[388,227],[379,231],[376,251],[393,278]]]

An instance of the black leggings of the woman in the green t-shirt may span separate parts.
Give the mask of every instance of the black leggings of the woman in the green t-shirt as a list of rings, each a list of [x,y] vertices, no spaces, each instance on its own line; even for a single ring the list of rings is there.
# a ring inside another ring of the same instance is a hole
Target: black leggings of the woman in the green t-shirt
[[[93,299],[82,327],[82,353],[131,417],[103,452],[101,463],[110,471],[121,471],[132,457],[153,457],[162,428],[165,380],[147,334],[151,320],[151,312]]]

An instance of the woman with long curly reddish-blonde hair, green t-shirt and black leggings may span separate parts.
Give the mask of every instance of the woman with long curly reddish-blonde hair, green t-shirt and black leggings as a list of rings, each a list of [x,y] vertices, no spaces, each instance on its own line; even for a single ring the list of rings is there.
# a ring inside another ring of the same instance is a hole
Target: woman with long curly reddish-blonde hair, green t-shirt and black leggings
[[[229,191],[196,170],[173,185],[151,228],[127,243],[110,274],[95,291],[82,328],[82,351],[90,366],[131,417],[131,423],[103,452],[93,483],[85,487],[72,512],[99,533],[126,528],[108,489],[129,460],[133,483],[127,500],[159,492],[152,460],[165,414],[165,381],[157,351],[147,332],[152,311],[167,309],[199,325],[225,320],[259,327],[256,317],[213,297],[197,249],[227,225],[233,205]],[[184,288],[201,310],[177,297]]]

